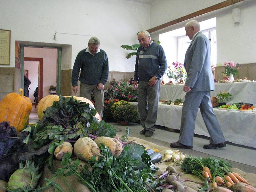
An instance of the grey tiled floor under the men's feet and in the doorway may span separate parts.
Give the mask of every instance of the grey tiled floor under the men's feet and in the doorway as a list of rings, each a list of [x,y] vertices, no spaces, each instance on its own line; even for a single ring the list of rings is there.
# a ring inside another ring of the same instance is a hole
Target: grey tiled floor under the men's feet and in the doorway
[[[36,123],[37,121],[38,117],[36,114],[36,109],[33,106],[32,112],[29,116],[29,123]],[[122,135],[125,133],[126,126],[122,126],[117,123],[109,124],[112,124],[116,127],[119,132],[118,134]],[[131,137],[144,139],[168,148],[170,147],[171,142],[176,142],[179,138],[178,132],[170,132],[163,129],[163,127],[156,127],[156,131],[154,132],[152,137],[145,137],[144,135],[140,135],[139,132],[142,130],[142,127],[139,124],[130,123],[128,127],[130,128]],[[217,158],[222,158],[226,161],[231,162],[232,167],[236,167],[247,173],[256,174],[256,149],[248,149],[230,144],[227,144],[227,147],[220,149],[204,149],[203,145],[208,143],[209,140],[207,139],[194,137],[193,149],[181,149],[180,151],[183,151],[185,154],[192,156],[214,156]]]

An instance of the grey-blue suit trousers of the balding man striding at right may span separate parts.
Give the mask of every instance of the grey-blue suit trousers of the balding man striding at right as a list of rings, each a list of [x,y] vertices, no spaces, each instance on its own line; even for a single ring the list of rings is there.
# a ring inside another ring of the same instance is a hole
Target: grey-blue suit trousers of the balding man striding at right
[[[193,136],[198,108],[211,136],[210,143],[225,142],[218,120],[212,110],[210,91],[187,92],[182,107],[179,142],[193,146]]]

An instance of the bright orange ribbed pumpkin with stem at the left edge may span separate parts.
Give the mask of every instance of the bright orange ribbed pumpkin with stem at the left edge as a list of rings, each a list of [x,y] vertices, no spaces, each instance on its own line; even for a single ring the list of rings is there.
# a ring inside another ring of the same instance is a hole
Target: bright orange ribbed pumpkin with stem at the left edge
[[[0,101],[0,122],[9,121],[17,132],[22,131],[28,125],[32,109],[32,103],[28,97],[23,95],[23,89],[19,89],[19,92],[20,94],[9,93]]]

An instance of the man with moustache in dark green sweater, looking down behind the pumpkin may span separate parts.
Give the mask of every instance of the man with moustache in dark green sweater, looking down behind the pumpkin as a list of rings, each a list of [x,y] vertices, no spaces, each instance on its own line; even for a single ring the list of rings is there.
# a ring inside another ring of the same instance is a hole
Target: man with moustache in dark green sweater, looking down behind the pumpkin
[[[81,70],[79,76],[79,81],[81,82],[80,96],[91,100],[93,93],[95,109],[102,119],[104,85],[108,81],[108,56],[99,47],[100,40],[97,37],[91,37],[88,47],[77,54],[72,71],[72,89],[76,94],[78,91],[78,75]]]

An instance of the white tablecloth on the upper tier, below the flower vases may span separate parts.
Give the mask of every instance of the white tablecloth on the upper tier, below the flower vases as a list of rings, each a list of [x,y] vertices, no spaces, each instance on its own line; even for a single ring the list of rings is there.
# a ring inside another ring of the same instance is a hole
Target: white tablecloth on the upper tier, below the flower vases
[[[211,91],[211,96],[216,97],[218,93],[225,91],[232,95],[232,100],[227,101],[228,104],[243,101],[256,105],[256,82],[215,83],[215,91]],[[183,84],[160,86],[160,100],[184,100],[185,95]]]

